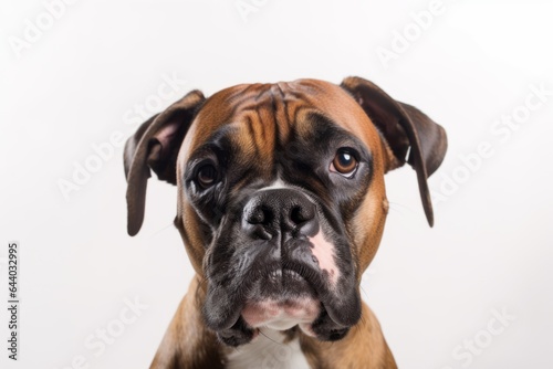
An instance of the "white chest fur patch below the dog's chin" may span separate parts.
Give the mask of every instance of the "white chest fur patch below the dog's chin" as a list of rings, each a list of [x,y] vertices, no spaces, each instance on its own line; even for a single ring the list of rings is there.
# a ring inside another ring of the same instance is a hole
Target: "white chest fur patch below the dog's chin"
[[[230,369],[309,369],[296,338],[283,344],[284,335],[261,328],[250,344],[230,349],[227,368]]]

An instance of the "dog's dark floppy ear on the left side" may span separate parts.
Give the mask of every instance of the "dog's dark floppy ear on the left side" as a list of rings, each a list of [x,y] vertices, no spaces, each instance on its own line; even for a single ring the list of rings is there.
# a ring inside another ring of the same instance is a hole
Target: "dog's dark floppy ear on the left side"
[[[127,179],[127,232],[135,235],[144,221],[146,186],[150,169],[160,180],[176,184],[177,156],[196,112],[205,101],[192,91],[138,128],[124,151]]]

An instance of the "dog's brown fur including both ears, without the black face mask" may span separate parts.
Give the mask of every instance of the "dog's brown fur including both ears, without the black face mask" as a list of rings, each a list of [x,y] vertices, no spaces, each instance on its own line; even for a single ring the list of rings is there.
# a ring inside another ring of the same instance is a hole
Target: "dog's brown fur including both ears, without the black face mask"
[[[369,117],[371,114],[367,112],[373,107],[367,106],[369,105],[367,101],[373,98],[377,104],[376,120],[372,120],[373,117]],[[199,106],[201,108],[191,122],[192,112]],[[310,135],[313,127],[307,113],[312,112],[324,113],[343,129],[354,134],[372,151],[371,187],[363,197],[361,205],[345,224],[349,239],[354,241],[352,255],[356,263],[357,284],[361,284],[362,274],[378,249],[388,212],[384,173],[404,165],[405,152],[408,149],[406,145],[411,145],[415,157],[409,157],[413,161],[409,164],[417,170],[425,211],[431,223],[431,203],[428,189],[425,187],[427,177],[425,162],[429,162],[434,171],[440,165],[447,147],[441,127],[414,107],[393,101],[377,86],[361,78],[346,78],[342,87],[315,80],[238,85],[223,89],[207,101],[201,93],[192,92],[159,115],[160,118],[153,117],[140,127],[125,148],[125,169],[129,181],[127,190],[129,234],[136,234],[143,221],[146,179],[149,177],[149,169],[146,166],[154,169],[160,179],[173,183],[176,180],[178,188],[182,189],[182,170],[189,155],[208,140],[219,127],[228,125],[230,129],[236,129],[232,139],[234,139],[233,147],[239,149],[237,160],[244,166],[255,166],[257,172],[264,180],[271,180],[274,175],[272,168],[274,156],[279,155],[275,143],[286,145],[292,127],[296,135]],[[411,122],[409,116],[424,122]],[[177,134],[184,134],[184,129],[188,129],[180,150],[167,151],[169,145],[166,145],[164,139],[175,138],[175,135],[160,136],[157,135],[157,130],[164,127],[163,119],[175,122],[182,117],[189,117],[190,120],[186,123],[189,127],[175,130]],[[385,120],[392,122],[389,127],[383,126],[386,124]],[[420,138],[426,140],[424,147],[419,144],[417,133],[414,133],[418,129],[416,126],[429,131],[427,136]],[[386,134],[383,134],[382,129],[392,131],[390,139],[394,145],[389,145],[387,137],[385,139]],[[405,131],[407,136],[410,135],[409,139],[405,137]],[[157,138],[159,139],[156,141]],[[156,151],[149,152],[153,144]],[[170,172],[171,168],[163,166],[166,164],[161,157],[164,155],[170,155],[173,158],[174,161],[170,164],[171,166],[176,164],[176,173]],[[160,176],[161,170],[165,172]],[[243,183],[237,183],[233,190],[239,190],[241,186]],[[313,184],[314,188],[316,186],[321,184]],[[177,207],[175,225],[182,236],[196,276],[167,329],[152,368],[223,368],[229,348],[220,344],[216,334],[206,327],[201,315],[207,291],[207,283],[204,280],[206,246],[202,222],[187,202],[182,190],[178,191]],[[397,367],[376,317],[365,304],[361,320],[342,340],[323,342],[304,335],[300,329],[290,329],[285,334],[288,339],[294,337],[300,339],[300,346],[313,368]]]

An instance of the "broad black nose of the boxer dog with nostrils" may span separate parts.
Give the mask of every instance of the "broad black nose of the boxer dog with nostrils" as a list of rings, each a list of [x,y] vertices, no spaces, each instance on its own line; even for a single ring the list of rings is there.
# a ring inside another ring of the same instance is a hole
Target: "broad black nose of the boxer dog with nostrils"
[[[293,189],[257,192],[243,209],[242,228],[255,239],[270,240],[279,232],[293,238],[319,230],[314,203]]]

